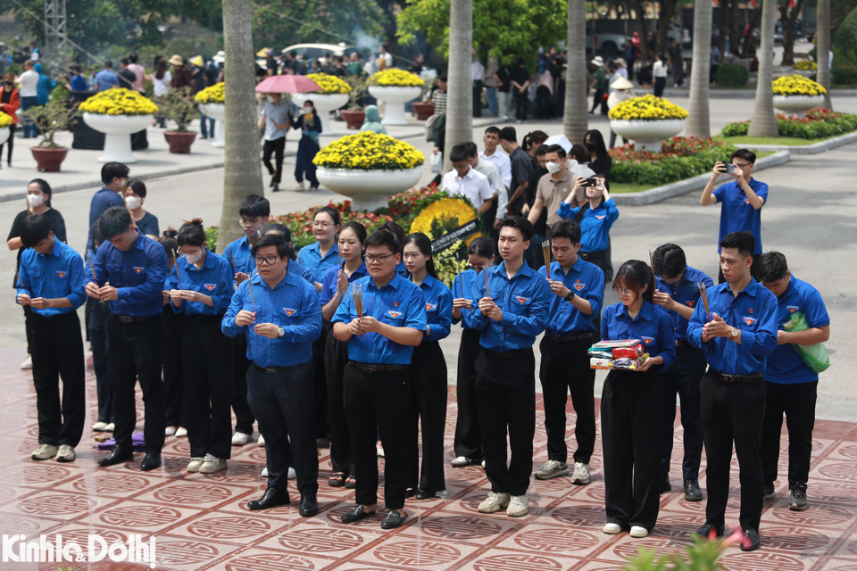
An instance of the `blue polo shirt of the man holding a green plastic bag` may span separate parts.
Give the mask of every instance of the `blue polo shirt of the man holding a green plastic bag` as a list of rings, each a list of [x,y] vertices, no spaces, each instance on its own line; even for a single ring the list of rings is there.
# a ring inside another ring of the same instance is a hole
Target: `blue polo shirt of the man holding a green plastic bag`
[[[777,298],[777,323],[780,329],[791,318],[793,313],[800,311],[806,316],[810,327],[830,325],[828,310],[824,306],[819,290],[792,274],[786,288],[786,293]],[[770,353],[768,368],[765,369],[765,380],[771,383],[794,385],[797,383],[812,383],[819,380],[819,374],[807,367],[795,350],[792,343],[777,345]]]

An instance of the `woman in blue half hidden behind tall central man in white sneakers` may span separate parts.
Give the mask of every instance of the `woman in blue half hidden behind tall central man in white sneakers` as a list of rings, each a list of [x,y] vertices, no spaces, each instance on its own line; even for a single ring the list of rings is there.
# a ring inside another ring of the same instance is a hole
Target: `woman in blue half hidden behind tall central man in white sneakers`
[[[482,463],[482,432],[479,430],[479,412],[476,406],[476,360],[482,347],[482,332],[472,327],[468,310],[476,301],[476,283],[480,274],[494,265],[494,243],[490,238],[479,237],[467,248],[467,269],[453,280],[453,325],[462,324],[462,341],[458,347],[458,377],[456,400],[458,416],[455,418],[455,458],[450,465],[464,468]]]

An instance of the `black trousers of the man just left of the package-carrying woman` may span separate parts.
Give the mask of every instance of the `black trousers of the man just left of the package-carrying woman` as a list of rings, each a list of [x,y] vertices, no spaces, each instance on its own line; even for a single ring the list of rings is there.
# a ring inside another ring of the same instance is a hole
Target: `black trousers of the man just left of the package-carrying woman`
[[[542,355],[538,379],[545,401],[547,457],[558,462],[568,460],[565,443],[565,403],[571,393],[571,405],[577,415],[574,437],[578,449],[574,461],[589,463],[595,451],[595,369],[589,368],[588,339],[560,343],[546,336],[539,344]]]

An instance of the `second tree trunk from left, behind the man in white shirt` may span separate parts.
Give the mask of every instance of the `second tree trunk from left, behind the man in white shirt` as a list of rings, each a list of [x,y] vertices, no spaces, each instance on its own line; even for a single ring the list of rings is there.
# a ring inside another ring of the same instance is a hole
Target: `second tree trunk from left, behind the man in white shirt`
[[[452,0],[449,5],[449,69],[446,89],[444,172],[453,168],[449,154],[454,145],[473,140],[473,0]]]

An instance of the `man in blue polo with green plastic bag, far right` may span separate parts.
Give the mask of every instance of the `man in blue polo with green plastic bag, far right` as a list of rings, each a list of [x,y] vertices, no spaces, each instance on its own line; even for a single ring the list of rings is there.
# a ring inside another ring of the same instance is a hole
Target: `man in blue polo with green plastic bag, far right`
[[[819,291],[792,275],[786,256],[765,252],[757,264],[761,285],[777,296],[777,348],[765,369],[765,418],[761,426],[761,469],[765,500],[774,497],[783,413],[788,427],[788,508],[803,511],[810,476],[812,428],[819,374],[807,367],[795,345],[824,343],[830,338],[830,318]],[[808,329],[785,331],[793,315],[803,313]]]

